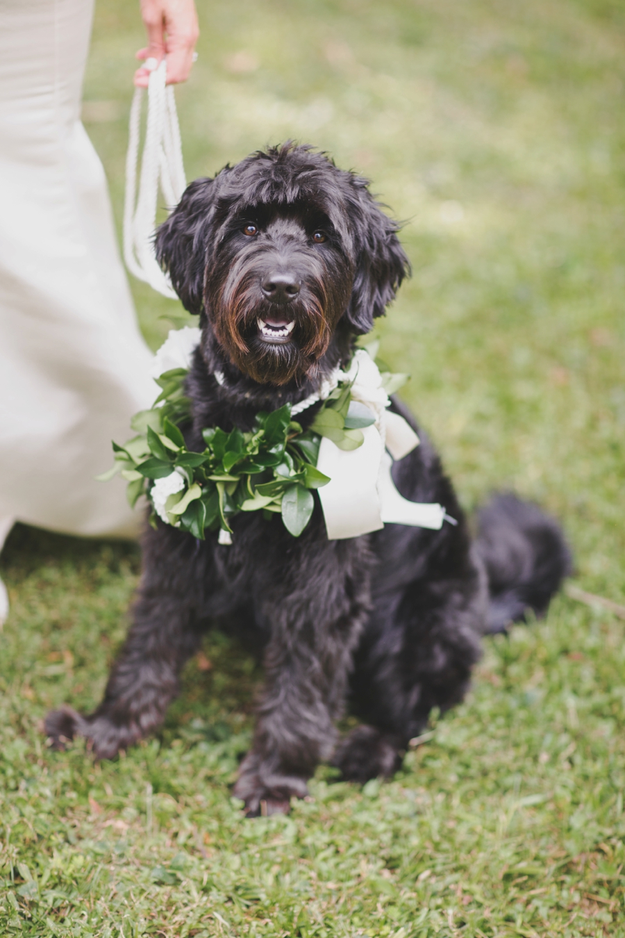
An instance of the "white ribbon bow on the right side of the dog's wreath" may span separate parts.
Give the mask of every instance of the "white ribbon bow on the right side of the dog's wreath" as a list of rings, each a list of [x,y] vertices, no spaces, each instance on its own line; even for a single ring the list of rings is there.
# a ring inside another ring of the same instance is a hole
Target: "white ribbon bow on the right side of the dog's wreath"
[[[364,403],[377,419],[362,431],[365,442],[358,449],[339,449],[332,440],[321,438],[317,468],[330,482],[318,492],[328,539],[358,537],[379,531],[385,523],[438,531],[446,517],[444,507],[409,502],[395,488],[393,461],[419,446],[419,437],[403,416],[386,410],[391,401],[378,366],[364,349],[353,356],[345,378],[353,381],[352,399]]]

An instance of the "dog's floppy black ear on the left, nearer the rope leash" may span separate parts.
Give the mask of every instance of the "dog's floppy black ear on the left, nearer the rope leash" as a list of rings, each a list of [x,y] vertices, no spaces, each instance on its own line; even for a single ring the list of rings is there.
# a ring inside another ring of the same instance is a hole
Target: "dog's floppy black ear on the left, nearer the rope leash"
[[[216,180],[196,179],[156,232],[156,260],[186,310],[201,313],[204,268],[215,214]]]

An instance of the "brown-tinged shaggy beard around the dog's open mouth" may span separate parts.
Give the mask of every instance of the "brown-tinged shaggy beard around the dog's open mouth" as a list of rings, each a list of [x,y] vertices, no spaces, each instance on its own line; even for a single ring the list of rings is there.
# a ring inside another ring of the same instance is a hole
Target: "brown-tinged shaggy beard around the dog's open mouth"
[[[342,311],[320,280],[305,283],[297,298],[282,307],[259,295],[258,276],[252,275],[226,280],[215,296],[207,291],[206,299],[217,340],[233,364],[260,384],[313,377]],[[259,320],[271,320],[278,310],[294,324],[288,340],[262,339]]]

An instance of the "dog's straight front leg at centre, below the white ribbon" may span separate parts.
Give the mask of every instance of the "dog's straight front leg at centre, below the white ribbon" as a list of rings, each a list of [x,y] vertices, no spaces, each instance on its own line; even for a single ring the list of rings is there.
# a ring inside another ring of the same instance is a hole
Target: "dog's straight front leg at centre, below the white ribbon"
[[[299,544],[295,563],[291,545],[280,586],[273,582],[260,599],[270,633],[266,684],[234,787],[251,817],[287,812],[290,798],[305,797],[306,780],[332,753],[333,721],[369,604],[365,538],[326,541],[316,552],[316,545]]]

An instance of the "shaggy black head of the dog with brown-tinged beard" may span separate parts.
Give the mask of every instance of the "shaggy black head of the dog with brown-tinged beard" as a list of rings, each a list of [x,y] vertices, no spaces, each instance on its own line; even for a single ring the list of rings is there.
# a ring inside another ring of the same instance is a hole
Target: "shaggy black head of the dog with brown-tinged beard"
[[[408,270],[364,179],[286,144],[192,183],[156,253],[190,312],[260,383],[312,376],[339,321],[368,332]]]

